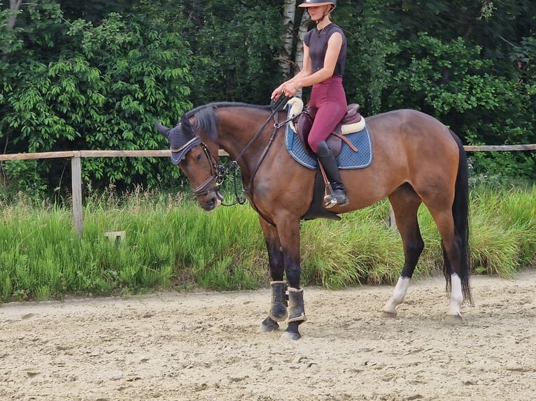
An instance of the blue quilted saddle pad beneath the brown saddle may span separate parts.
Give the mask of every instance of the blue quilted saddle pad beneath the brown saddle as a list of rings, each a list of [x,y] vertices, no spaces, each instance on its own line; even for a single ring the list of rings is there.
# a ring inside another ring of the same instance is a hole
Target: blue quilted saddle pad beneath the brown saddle
[[[351,147],[342,142],[341,152],[337,156],[337,165],[343,170],[351,170],[353,168],[365,168],[372,163],[372,145],[370,143],[370,135],[367,126],[359,132],[348,133],[345,137],[350,140],[358,152],[354,152]],[[290,155],[302,166],[316,170],[318,161],[313,159],[305,151],[302,141],[295,131],[287,124],[285,129],[285,145]]]

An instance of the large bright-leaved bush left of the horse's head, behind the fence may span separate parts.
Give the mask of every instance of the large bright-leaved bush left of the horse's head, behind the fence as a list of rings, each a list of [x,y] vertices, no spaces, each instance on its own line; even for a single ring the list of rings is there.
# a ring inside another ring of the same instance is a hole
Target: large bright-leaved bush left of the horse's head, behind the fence
[[[178,33],[117,13],[97,26],[69,22],[47,1],[31,3],[19,18],[28,27],[16,33],[26,39],[22,47],[13,41],[0,77],[0,144],[6,151],[165,147],[153,122],[173,124],[191,108],[191,52]],[[168,164],[96,159],[85,163],[84,179],[155,186],[177,176]],[[50,163],[38,173],[59,175]]]

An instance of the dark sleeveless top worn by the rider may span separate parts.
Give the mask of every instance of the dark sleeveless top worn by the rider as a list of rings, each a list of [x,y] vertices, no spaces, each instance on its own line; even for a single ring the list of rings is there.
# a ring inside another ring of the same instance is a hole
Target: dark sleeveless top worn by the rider
[[[329,24],[324,29],[311,29],[304,36],[304,43],[309,48],[309,57],[313,62],[313,73],[320,70],[324,66],[325,52],[327,51],[327,41],[335,32],[339,32],[342,36],[341,51],[339,52],[339,59],[335,65],[333,75],[344,75],[344,66],[346,65],[346,36],[341,27],[336,24]]]

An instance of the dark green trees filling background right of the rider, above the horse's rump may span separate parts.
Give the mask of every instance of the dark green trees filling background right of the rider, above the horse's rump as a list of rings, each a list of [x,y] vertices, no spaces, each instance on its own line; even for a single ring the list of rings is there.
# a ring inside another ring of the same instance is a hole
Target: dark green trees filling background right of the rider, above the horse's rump
[[[365,115],[415,108],[470,145],[536,143],[536,3],[341,3],[348,99]],[[536,178],[534,152],[479,153],[479,173]]]

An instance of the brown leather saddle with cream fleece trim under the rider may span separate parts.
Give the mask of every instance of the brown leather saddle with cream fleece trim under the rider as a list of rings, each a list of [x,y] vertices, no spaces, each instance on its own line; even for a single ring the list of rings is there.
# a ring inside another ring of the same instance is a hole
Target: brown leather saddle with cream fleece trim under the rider
[[[290,102],[289,102],[290,103]],[[302,103],[303,104],[303,103]],[[299,140],[302,141],[304,150],[309,153],[310,156],[316,157],[313,150],[309,146],[307,137],[313,126],[313,120],[316,115],[317,108],[305,107],[302,112],[297,115],[297,121],[295,122],[295,132]],[[341,122],[337,124],[334,131],[327,137],[326,143],[330,147],[332,153],[335,157],[341,152],[342,142],[344,141],[348,147],[351,148],[354,152],[358,152],[358,148],[353,145],[348,139],[344,138],[344,135],[347,133],[354,133],[360,131],[365,124],[364,119],[362,119],[359,113],[359,105],[357,103],[352,103],[348,105],[346,110],[346,115],[341,119]]]

